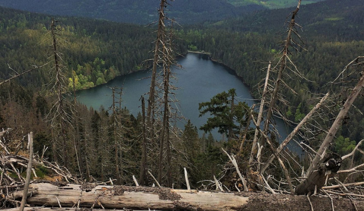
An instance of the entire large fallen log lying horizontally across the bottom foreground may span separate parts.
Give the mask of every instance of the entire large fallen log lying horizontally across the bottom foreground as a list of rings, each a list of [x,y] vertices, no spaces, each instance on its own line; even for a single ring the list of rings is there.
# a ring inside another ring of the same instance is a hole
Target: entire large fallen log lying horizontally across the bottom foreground
[[[21,190],[13,193],[15,199],[21,198],[21,194]],[[284,210],[303,211],[311,209],[306,196],[252,192],[207,192],[141,186],[33,183],[30,185],[29,195],[27,204],[46,207],[61,205],[62,209],[59,211],[77,206],[83,209],[103,207],[103,209],[184,211],[281,211],[283,208]],[[331,208],[329,198],[311,196],[311,202],[315,210]],[[333,204],[335,211],[355,210],[353,203],[346,198],[334,198]],[[356,200],[355,204],[359,210],[364,209],[364,201]],[[36,209],[49,211],[48,208]]]

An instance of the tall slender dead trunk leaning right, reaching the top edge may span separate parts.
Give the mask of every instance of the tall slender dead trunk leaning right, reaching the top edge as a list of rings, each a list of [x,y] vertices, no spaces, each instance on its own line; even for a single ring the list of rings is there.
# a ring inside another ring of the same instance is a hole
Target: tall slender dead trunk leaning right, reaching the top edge
[[[298,13],[300,4],[301,4],[301,0],[298,1],[297,8],[293,12],[291,21],[289,23],[288,35],[287,35],[287,39],[285,40],[284,46],[283,46],[282,57],[281,57],[281,60],[280,60],[281,65],[280,65],[280,69],[278,70],[276,85],[274,87],[272,96],[270,98],[270,104],[269,104],[268,111],[267,111],[266,118],[265,118],[264,129],[263,129],[263,131],[265,131],[265,133],[268,130],[268,127],[269,127],[269,124],[270,124],[270,119],[272,118],[272,115],[273,115],[273,108],[275,106],[276,99],[278,97],[277,95],[278,95],[278,91],[280,89],[283,70],[286,68],[287,53],[289,51],[288,48],[290,46],[290,42],[291,42],[291,39],[292,39],[292,31],[293,31],[294,26],[295,26],[295,18],[296,18],[296,15]],[[262,136],[262,138],[260,140],[260,144],[261,145],[265,144],[265,137],[264,136]]]

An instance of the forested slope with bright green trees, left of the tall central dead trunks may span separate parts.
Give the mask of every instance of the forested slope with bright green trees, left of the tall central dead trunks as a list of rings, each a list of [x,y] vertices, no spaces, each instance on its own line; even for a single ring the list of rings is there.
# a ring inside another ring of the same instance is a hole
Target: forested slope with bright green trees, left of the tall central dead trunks
[[[13,70],[31,69],[46,63],[50,50],[46,34],[50,17],[0,8],[0,77]],[[152,49],[152,29],[86,18],[56,18],[62,29],[62,50],[67,69],[74,70],[76,88],[106,83],[117,75],[140,70],[148,63]],[[182,50],[185,49],[182,45]],[[47,67],[19,79],[27,88],[49,82]],[[70,75],[68,75],[71,77]]]

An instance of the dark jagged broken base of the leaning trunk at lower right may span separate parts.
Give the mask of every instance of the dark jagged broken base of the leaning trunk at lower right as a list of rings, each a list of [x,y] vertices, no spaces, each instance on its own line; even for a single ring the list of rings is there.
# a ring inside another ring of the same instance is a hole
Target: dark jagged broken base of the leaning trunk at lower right
[[[327,180],[340,169],[341,162],[341,157],[334,153],[322,159],[318,164],[317,170],[313,171],[296,187],[295,194],[306,195],[322,188]]]

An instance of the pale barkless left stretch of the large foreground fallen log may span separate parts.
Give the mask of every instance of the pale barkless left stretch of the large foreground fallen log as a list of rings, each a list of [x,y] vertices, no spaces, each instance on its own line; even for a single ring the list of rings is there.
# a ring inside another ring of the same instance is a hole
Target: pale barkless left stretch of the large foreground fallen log
[[[90,208],[95,199],[104,208],[110,209],[187,209],[202,210],[233,210],[247,204],[248,197],[234,193],[214,193],[197,190],[174,190],[169,188],[127,187],[127,186],[96,186],[85,187],[76,184],[57,186],[49,183],[30,185],[29,191],[36,193],[28,197],[27,203],[37,206],[72,207],[78,203],[82,191],[80,207]],[[22,191],[15,192],[15,198],[21,197]],[[58,200],[57,200],[57,198]],[[100,207],[98,204],[95,207]]]

